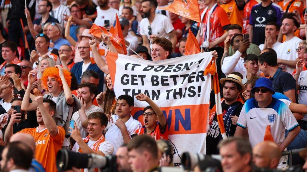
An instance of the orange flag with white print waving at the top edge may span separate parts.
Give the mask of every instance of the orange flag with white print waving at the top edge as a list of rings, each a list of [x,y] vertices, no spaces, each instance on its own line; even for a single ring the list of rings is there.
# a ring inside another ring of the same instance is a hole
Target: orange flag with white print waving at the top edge
[[[196,22],[200,21],[198,0],[175,0],[167,7],[159,7]]]

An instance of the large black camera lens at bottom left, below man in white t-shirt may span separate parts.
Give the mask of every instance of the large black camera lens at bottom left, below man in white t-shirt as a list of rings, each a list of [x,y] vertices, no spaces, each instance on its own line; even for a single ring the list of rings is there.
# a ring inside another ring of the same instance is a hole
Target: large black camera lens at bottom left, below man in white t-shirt
[[[116,156],[101,156],[98,154],[80,154],[66,149],[57,154],[57,168],[59,171],[75,168],[100,168],[101,171],[117,171]]]

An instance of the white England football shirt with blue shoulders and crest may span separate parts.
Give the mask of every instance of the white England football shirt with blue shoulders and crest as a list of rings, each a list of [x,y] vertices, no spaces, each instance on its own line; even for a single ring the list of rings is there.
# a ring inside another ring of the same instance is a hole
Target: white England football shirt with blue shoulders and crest
[[[254,98],[248,99],[242,107],[237,125],[248,128],[248,138],[252,147],[263,142],[267,125],[271,125],[271,134],[277,145],[285,140],[285,128],[291,131],[299,126],[289,107],[275,98],[266,108],[259,108]],[[286,166],[287,156],[282,156],[277,168]]]

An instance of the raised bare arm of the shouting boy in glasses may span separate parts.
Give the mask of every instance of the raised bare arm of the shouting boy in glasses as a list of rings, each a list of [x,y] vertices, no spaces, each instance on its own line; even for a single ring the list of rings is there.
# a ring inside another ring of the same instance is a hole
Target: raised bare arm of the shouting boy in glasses
[[[139,101],[146,101],[153,108],[153,111],[156,113],[161,127],[163,129],[165,129],[165,127],[166,127],[166,118],[165,118],[162,110],[160,109],[160,107],[155,102],[153,102],[147,95],[145,95],[143,93],[138,94],[135,97]]]

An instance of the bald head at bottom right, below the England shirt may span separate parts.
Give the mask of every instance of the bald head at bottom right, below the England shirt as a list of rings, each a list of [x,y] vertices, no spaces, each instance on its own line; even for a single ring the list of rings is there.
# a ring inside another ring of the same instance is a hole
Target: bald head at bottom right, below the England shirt
[[[276,169],[281,156],[282,152],[274,142],[261,142],[253,148],[253,162],[260,168]]]

